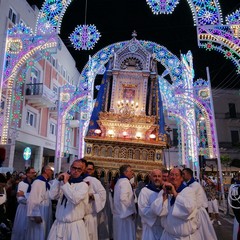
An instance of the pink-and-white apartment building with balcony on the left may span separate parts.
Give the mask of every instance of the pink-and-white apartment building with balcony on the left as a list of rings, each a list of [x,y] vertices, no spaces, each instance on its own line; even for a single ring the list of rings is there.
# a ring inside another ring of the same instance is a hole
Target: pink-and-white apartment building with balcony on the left
[[[3,75],[7,29],[22,23],[35,28],[39,9],[26,0],[0,0],[0,66]],[[40,170],[43,164],[53,164],[56,148],[57,103],[61,86],[77,86],[80,73],[64,43],[59,38],[57,53],[29,68],[23,90],[23,104],[18,128],[11,129],[8,151],[3,167],[23,170],[32,165]],[[4,114],[4,89],[1,114]],[[69,162],[78,155],[78,129],[69,128],[69,151],[63,159]],[[27,149],[26,149],[27,148]],[[30,151],[29,151],[30,149]],[[24,152],[25,151],[25,152]],[[26,152],[27,151],[27,152]],[[31,152],[31,154],[30,154]],[[30,154],[24,160],[24,154]]]

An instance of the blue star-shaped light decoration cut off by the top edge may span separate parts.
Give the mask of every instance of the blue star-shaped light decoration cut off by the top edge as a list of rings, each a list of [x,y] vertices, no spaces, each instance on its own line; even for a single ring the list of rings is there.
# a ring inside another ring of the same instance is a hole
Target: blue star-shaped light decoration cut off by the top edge
[[[179,0],[146,0],[154,14],[171,14]]]

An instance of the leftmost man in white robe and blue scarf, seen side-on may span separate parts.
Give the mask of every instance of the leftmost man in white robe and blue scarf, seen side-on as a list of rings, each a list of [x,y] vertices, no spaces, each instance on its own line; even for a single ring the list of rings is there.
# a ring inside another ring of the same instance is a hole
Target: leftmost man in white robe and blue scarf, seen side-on
[[[27,232],[27,199],[31,191],[36,171],[33,167],[26,169],[26,178],[18,184],[17,201],[18,207],[14,219],[11,240],[25,240]]]

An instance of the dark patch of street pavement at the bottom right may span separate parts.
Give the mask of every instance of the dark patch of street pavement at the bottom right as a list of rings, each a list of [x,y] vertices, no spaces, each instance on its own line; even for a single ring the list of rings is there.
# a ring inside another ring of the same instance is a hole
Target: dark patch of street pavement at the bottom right
[[[232,240],[233,216],[220,213],[220,222],[222,223],[221,226],[217,222],[213,223],[218,240]]]

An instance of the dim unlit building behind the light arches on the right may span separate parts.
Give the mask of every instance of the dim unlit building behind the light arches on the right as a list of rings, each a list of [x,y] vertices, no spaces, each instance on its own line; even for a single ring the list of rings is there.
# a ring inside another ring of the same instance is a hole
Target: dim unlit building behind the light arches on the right
[[[240,166],[240,92],[237,89],[212,89],[216,129],[220,156],[227,155],[233,165]],[[178,163],[178,131],[175,122],[169,121],[169,135],[171,137],[170,149],[165,150],[166,166],[179,165]],[[213,164],[216,168],[216,163]],[[226,167],[223,166],[223,171]],[[227,167],[227,171],[237,168]],[[239,168],[240,171],[240,168]]]

